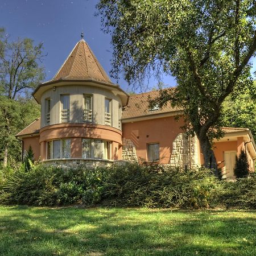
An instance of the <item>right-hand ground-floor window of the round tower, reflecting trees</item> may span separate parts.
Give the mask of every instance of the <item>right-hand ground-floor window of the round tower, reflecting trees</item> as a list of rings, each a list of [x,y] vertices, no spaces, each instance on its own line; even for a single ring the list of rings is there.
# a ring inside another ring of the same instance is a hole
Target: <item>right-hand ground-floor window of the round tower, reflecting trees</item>
[[[82,158],[110,159],[111,142],[101,139],[82,139]]]

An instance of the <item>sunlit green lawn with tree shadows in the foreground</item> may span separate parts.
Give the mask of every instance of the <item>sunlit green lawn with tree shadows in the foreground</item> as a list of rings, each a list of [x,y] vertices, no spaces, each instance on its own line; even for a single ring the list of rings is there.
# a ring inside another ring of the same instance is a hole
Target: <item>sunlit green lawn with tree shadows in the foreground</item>
[[[256,211],[0,207],[0,255],[256,255]]]

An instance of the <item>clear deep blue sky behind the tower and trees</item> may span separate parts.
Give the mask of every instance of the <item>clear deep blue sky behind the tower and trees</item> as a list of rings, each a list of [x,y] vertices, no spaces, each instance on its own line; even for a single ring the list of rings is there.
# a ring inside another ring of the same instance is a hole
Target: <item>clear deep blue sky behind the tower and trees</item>
[[[43,42],[43,65],[46,80],[52,79],[65,61],[69,52],[80,40],[84,39],[96,55],[98,61],[109,74],[112,58],[110,35],[101,31],[100,17],[95,16],[97,0],[0,0],[0,27],[5,27],[10,40],[31,38],[35,43]],[[255,71],[256,61],[254,60]],[[117,82],[112,79],[113,82]],[[174,86],[173,77],[163,77],[164,84]],[[158,81],[153,78],[149,86]],[[118,84],[124,90],[131,90],[123,79]],[[139,92],[139,91],[138,91]]]

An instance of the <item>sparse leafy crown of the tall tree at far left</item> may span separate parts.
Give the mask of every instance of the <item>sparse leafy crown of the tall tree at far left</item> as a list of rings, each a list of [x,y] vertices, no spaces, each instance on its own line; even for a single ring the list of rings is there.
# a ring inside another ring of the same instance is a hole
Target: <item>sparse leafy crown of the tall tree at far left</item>
[[[44,79],[43,44],[34,45],[32,39],[10,42],[0,29],[0,87],[1,94],[15,100],[20,93],[36,88]]]

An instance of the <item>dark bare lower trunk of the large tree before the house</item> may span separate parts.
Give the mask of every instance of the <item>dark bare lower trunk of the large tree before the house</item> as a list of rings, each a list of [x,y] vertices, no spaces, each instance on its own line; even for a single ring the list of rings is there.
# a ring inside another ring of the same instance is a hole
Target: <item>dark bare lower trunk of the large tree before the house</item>
[[[200,142],[201,151],[204,155],[204,166],[213,170],[214,175],[218,177],[218,166],[212,149],[212,145],[207,136],[197,136]]]

